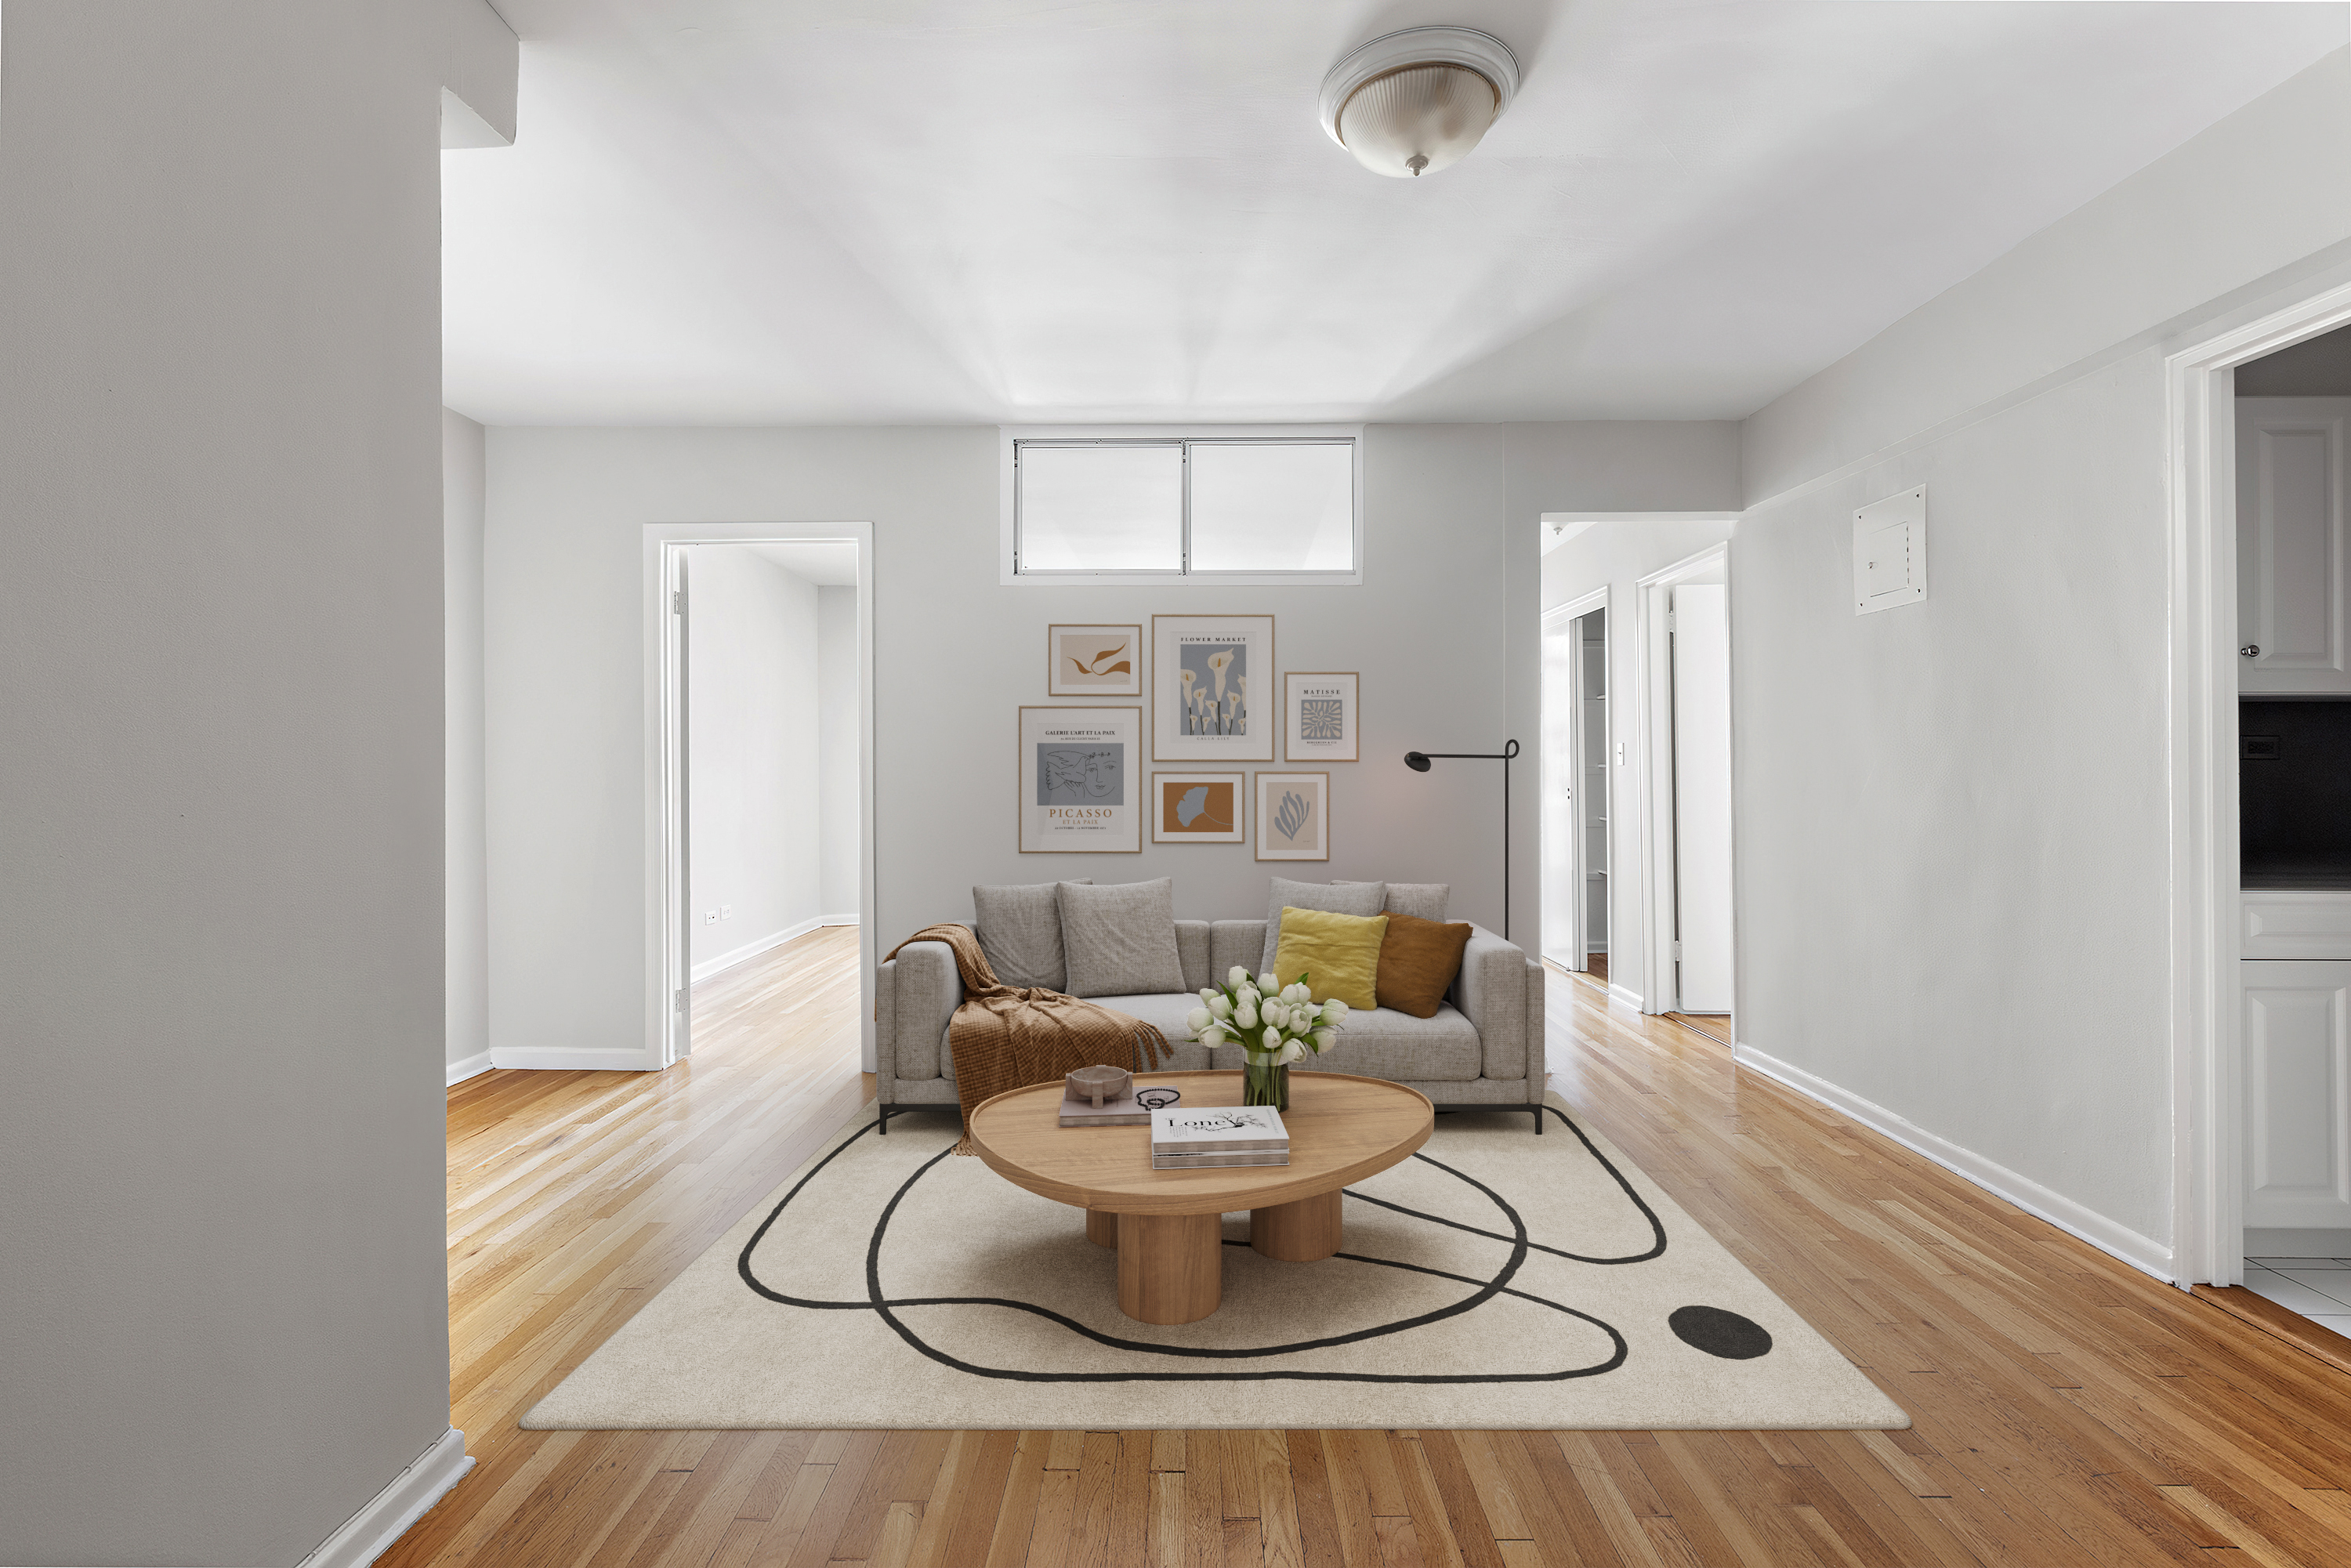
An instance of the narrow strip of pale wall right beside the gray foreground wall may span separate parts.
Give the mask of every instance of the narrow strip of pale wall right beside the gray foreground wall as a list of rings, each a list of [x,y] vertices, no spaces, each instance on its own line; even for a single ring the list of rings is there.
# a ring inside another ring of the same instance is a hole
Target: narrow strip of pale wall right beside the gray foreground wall
[[[442,409],[442,910],[447,1041],[489,1067],[489,865],[482,818],[482,425]]]

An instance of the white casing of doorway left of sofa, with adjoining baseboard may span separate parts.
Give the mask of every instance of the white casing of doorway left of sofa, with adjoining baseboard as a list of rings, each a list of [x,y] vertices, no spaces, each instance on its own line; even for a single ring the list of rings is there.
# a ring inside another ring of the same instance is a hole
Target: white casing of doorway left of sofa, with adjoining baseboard
[[[858,945],[875,947],[875,524],[870,522],[649,522],[644,524],[644,905],[647,905],[647,978],[644,978],[644,1051],[562,1051],[527,1046],[491,1051],[498,1067],[635,1067],[658,1072],[686,1056],[689,1032],[677,1030],[670,994],[672,980],[691,971],[679,931],[684,926],[684,889],[675,875],[675,825],[684,802],[677,799],[677,757],[672,757],[672,658],[675,616],[670,585],[675,559],[684,545],[748,545],[795,538],[844,538],[858,548]],[[849,924],[842,917],[839,924]],[[823,924],[832,924],[825,917]],[[858,1034],[865,1070],[875,1063],[875,966],[858,964]],[[531,1060],[520,1060],[529,1056]],[[630,1058],[630,1060],[543,1060],[543,1058]],[[517,1058],[517,1060],[508,1060]]]

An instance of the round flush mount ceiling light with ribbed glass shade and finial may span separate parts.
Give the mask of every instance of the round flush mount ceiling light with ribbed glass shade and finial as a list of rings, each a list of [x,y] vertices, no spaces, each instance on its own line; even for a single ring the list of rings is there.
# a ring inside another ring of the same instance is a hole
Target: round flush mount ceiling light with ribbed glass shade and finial
[[[1321,122],[1373,174],[1458,165],[1519,92],[1519,56],[1474,28],[1404,28],[1349,49],[1321,89]]]

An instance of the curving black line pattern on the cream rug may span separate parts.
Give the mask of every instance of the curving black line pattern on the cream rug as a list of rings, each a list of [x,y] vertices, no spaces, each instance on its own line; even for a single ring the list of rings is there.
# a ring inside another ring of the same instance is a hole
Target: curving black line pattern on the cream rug
[[[1592,1154],[1592,1159],[1596,1159],[1601,1164],[1601,1168],[1608,1171],[1610,1178],[1615,1178],[1615,1182],[1625,1192],[1625,1197],[1629,1197],[1634,1201],[1634,1206],[1639,1206],[1641,1215],[1650,1222],[1650,1229],[1655,1232],[1655,1244],[1650,1246],[1650,1251],[1646,1251],[1641,1255],[1625,1255],[1625,1258],[1578,1258],[1575,1253],[1561,1253],[1559,1248],[1549,1248],[1549,1246],[1542,1246],[1540,1251],[1554,1253],[1559,1258],[1575,1258],[1580,1262],[1643,1262],[1648,1258],[1660,1255],[1665,1251],[1665,1225],[1657,1220],[1657,1213],[1648,1206],[1648,1201],[1641,1199],[1641,1194],[1632,1187],[1632,1182],[1625,1180],[1625,1173],[1617,1171],[1615,1164],[1610,1164],[1608,1157],[1601,1154],[1592,1145],[1589,1138],[1585,1138],[1582,1128],[1575,1126],[1575,1121],[1566,1112],[1561,1112],[1554,1105],[1545,1105],[1545,1110],[1549,1110],[1554,1117],[1559,1117],[1578,1135],[1578,1140],[1585,1145],[1585,1150]],[[947,1159],[952,1154],[952,1147],[940,1150],[938,1154],[933,1154],[931,1159],[926,1159],[922,1166],[917,1166],[915,1173],[907,1175],[898,1185],[898,1190],[891,1194],[889,1204],[882,1208],[882,1218],[875,1220],[872,1237],[865,1244],[865,1300],[842,1300],[842,1302],[835,1302],[835,1300],[813,1300],[813,1298],[788,1295],[783,1291],[773,1291],[766,1284],[762,1284],[759,1276],[752,1272],[750,1258],[757,1251],[759,1241],[766,1239],[769,1227],[773,1227],[776,1220],[783,1218],[783,1211],[792,1204],[792,1199],[799,1197],[799,1192],[811,1180],[816,1180],[825,1171],[825,1166],[830,1166],[835,1159],[839,1159],[858,1138],[863,1138],[865,1133],[875,1131],[875,1126],[879,1126],[879,1121],[868,1121],[865,1126],[860,1126],[856,1133],[851,1133],[839,1145],[835,1145],[835,1150],[830,1154],[825,1154],[820,1161],[816,1161],[816,1166],[811,1166],[806,1175],[802,1175],[797,1182],[792,1182],[792,1190],[783,1194],[783,1199],[776,1204],[776,1208],[769,1211],[766,1220],[759,1222],[759,1229],[752,1232],[750,1241],[743,1244],[743,1253],[736,1258],[736,1272],[743,1276],[743,1284],[750,1286],[757,1295],[762,1295],[762,1298],[766,1298],[771,1302],[785,1305],[785,1307],[804,1307],[804,1309],[813,1309],[813,1312],[875,1312],[915,1352],[929,1356],[931,1361],[938,1361],[940,1366],[952,1366],[959,1373],[971,1373],[976,1378],[999,1378],[999,1380],[1009,1380],[1009,1382],[1436,1382],[1436,1385],[1451,1385],[1451,1382],[1563,1382],[1563,1380],[1570,1380],[1570,1378],[1596,1378],[1601,1373],[1613,1373],[1615,1368],[1625,1366],[1625,1356],[1629,1354],[1625,1335],[1617,1333],[1617,1328],[1613,1324],[1608,1324],[1608,1321],[1603,1321],[1599,1316],[1592,1316],[1589,1312],[1580,1312],[1575,1307],[1547,1300],[1542,1295],[1533,1295],[1528,1291],[1514,1291],[1514,1288],[1509,1288],[1509,1279],[1516,1276],[1516,1272],[1526,1265],[1526,1253],[1531,1248],[1538,1248],[1540,1244],[1533,1244],[1528,1239],[1528,1234],[1526,1234],[1526,1220],[1519,1215],[1516,1208],[1512,1208],[1512,1204],[1500,1192],[1495,1192],[1493,1187],[1488,1187],[1486,1182],[1476,1180],[1474,1175],[1469,1175],[1465,1171],[1455,1171],[1453,1166],[1448,1166],[1448,1164],[1444,1164],[1439,1159],[1432,1159],[1429,1154],[1413,1154],[1413,1159],[1420,1159],[1420,1161],[1425,1161],[1429,1166],[1436,1166],[1446,1175],[1451,1175],[1451,1178],[1455,1178],[1455,1180],[1460,1180],[1460,1182],[1465,1182],[1465,1185],[1476,1187],[1479,1192],[1483,1192],[1486,1199],[1493,1201],[1493,1206],[1500,1208],[1509,1218],[1512,1234],[1505,1237],[1500,1232],[1476,1229],[1472,1225],[1455,1225],[1453,1220],[1444,1220],[1439,1215],[1420,1213],[1418,1208],[1404,1208],[1399,1204],[1387,1204],[1382,1199],[1364,1199],[1364,1201],[1380,1204],[1380,1208],[1392,1208],[1392,1211],[1411,1215],[1415,1220],[1432,1220],[1436,1225],[1451,1225],[1453,1229],[1467,1229],[1472,1234],[1491,1237],[1495,1241],[1509,1241],[1512,1244],[1509,1262],[1505,1262],[1502,1269],[1498,1274],[1493,1274],[1491,1279],[1474,1279],[1469,1274],[1451,1274],[1446,1269],[1432,1269],[1432,1267],[1422,1267],[1418,1262],[1401,1262],[1401,1260],[1394,1260],[1394,1258],[1371,1258],[1371,1255],[1364,1255],[1364,1253],[1335,1253],[1338,1258],[1345,1258],[1347,1262],[1366,1262],[1366,1265],[1387,1267],[1387,1269],[1406,1269],[1406,1272],[1413,1272],[1413,1274],[1429,1274],[1429,1276],[1436,1276],[1436,1279],[1453,1279],[1453,1281],[1460,1281],[1460,1284],[1467,1284],[1467,1286],[1476,1286],[1476,1291],[1472,1295],[1462,1298],[1460,1302],[1453,1302],[1451,1307],[1436,1307],[1434,1312],[1422,1312],[1422,1314],[1411,1316],[1411,1319],[1399,1319],[1394,1324],[1380,1324],[1380,1326],[1373,1326],[1373,1328],[1359,1328],[1354,1333],[1331,1335],[1331,1338],[1321,1338],[1321,1340],[1298,1340],[1293,1345],[1262,1345],[1262,1347],[1244,1347],[1244,1349],[1218,1349],[1218,1347],[1197,1347],[1197,1345],[1152,1345],[1147,1340],[1126,1340],[1126,1338],[1119,1338],[1119,1335],[1107,1335],[1107,1333],[1100,1333],[1098,1328],[1089,1328],[1086,1324],[1079,1324],[1072,1316],[1053,1312],[1051,1307],[1039,1307],[1034,1302],[1011,1300],[1011,1298],[1002,1298],[1002,1295],[900,1295],[900,1298],[884,1295],[882,1293],[882,1239],[889,1232],[891,1215],[898,1213],[898,1204],[905,1199],[907,1192],[915,1190],[915,1182],[919,1182],[924,1175],[929,1175],[938,1166],[938,1161],[943,1161],[943,1159]],[[1361,1199],[1364,1194],[1347,1190],[1347,1197]],[[1239,1246],[1239,1244],[1227,1244],[1227,1246]],[[1436,1324],[1436,1321],[1444,1321],[1444,1319],[1451,1319],[1451,1316],[1460,1316],[1462,1312],[1472,1312],[1476,1307],[1483,1307],[1495,1295],[1514,1295],[1519,1300],[1526,1300],[1526,1302],[1533,1302],[1533,1305],[1540,1305],[1540,1307],[1549,1307],[1552,1312],[1561,1312],[1566,1316],[1582,1319],[1585,1324],[1592,1324],[1594,1328],[1599,1328],[1601,1333],[1606,1333],[1608,1340],[1613,1342],[1610,1356],[1606,1361],[1596,1361],[1592,1366],[1570,1366],[1570,1368],[1561,1368],[1561,1371],[1552,1371],[1552,1373],[1310,1373],[1310,1371],[1260,1371],[1260,1373],[1244,1373],[1244,1371],[1220,1371],[1220,1373],[1037,1373],[1037,1371],[1025,1371],[1025,1368],[978,1366],[973,1361],[964,1361],[959,1356],[952,1356],[952,1354],[938,1349],[936,1345],[931,1345],[929,1340],[924,1340],[919,1333],[915,1333],[905,1321],[898,1319],[898,1312],[896,1312],[896,1309],[907,1309],[907,1307],[1006,1307],[1011,1312],[1027,1312],[1032,1316],[1041,1316],[1041,1319],[1046,1319],[1051,1324],[1058,1324],[1058,1326],[1067,1328],[1070,1333],[1077,1333],[1077,1335],[1081,1335],[1086,1340],[1093,1340],[1098,1345],[1105,1345],[1110,1349],[1126,1349],[1126,1352],[1154,1354],[1154,1356],[1194,1356],[1194,1359],[1232,1361],[1232,1359],[1284,1356],[1284,1354],[1298,1354],[1298,1352],[1307,1352],[1307,1349],[1328,1349],[1328,1347],[1335,1347],[1335,1345],[1354,1345],[1354,1342],[1361,1342],[1361,1340],[1375,1340],[1375,1338],[1385,1338],[1385,1335],[1392,1335],[1392,1333],[1404,1333],[1408,1328],[1422,1328],[1427,1324]]]

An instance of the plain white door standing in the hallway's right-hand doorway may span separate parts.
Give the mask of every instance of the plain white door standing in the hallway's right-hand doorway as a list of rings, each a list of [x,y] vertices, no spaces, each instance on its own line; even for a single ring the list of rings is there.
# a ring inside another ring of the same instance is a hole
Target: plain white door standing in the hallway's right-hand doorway
[[[1674,952],[1679,1011],[1730,1011],[1730,590],[1674,588]]]

